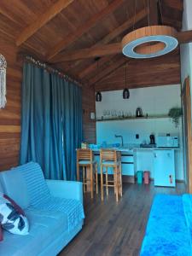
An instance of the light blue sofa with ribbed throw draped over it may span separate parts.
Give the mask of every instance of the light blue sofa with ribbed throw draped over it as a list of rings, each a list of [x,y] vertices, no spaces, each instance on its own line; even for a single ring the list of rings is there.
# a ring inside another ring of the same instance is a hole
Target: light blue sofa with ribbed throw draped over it
[[[45,180],[34,162],[0,172],[0,191],[24,209],[27,236],[3,230],[0,255],[56,255],[76,236],[84,223],[82,183]]]

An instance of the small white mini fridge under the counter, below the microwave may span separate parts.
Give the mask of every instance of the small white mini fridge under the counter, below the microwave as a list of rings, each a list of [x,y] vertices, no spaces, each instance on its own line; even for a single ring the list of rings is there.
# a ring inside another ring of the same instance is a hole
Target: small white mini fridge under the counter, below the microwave
[[[174,149],[154,150],[154,186],[175,187]]]

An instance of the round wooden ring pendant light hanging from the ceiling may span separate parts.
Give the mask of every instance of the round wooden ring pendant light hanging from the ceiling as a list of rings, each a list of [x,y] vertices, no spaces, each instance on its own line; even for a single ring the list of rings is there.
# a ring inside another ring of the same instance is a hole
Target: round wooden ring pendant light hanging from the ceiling
[[[166,55],[178,45],[177,31],[171,26],[145,26],[122,39],[125,56],[146,59]]]

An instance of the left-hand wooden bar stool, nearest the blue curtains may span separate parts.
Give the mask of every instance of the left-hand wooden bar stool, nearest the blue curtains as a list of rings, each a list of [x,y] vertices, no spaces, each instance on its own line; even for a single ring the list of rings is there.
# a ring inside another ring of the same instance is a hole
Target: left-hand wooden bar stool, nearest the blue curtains
[[[94,187],[96,185],[96,194],[98,194],[98,174],[97,163],[94,160],[91,149],[79,148],[77,149],[77,180],[80,179],[80,167],[83,168],[83,184],[84,192],[90,184],[90,195],[93,198]],[[90,172],[89,172],[90,171]]]

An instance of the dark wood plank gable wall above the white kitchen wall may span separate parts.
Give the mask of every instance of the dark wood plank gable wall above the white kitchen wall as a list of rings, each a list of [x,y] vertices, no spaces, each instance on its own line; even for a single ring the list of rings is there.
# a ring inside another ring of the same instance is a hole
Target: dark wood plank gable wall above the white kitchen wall
[[[127,62],[127,88],[180,84],[180,53],[178,50],[161,57]],[[96,90],[123,90],[125,65],[95,84]]]

